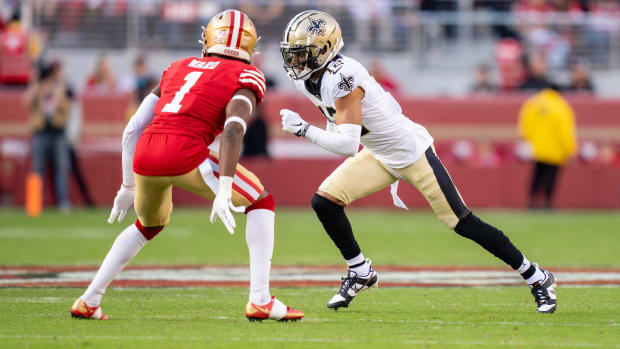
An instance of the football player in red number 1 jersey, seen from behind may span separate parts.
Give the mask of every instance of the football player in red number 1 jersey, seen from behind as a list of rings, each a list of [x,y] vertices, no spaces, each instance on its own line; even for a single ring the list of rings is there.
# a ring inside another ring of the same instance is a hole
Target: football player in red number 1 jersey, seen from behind
[[[176,61],[147,96],[123,133],[123,183],[108,219],[120,222],[132,204],[138,219],[114,241],[71,316],[107,319],[99,304],[106,288],[170,220],[172,186],[213,200],[211,222],[219,217],[233,234],[231,213],[247,215],[250,251],[250,320],[299,320],[269,293],[274,240],[273,196],[237,163],[246,123],[265,94],[263,74],[250,64],[258,37],[243,12],[226,10],[203,32],[202,58]],[[222,134],[219,154],[208,146]]]

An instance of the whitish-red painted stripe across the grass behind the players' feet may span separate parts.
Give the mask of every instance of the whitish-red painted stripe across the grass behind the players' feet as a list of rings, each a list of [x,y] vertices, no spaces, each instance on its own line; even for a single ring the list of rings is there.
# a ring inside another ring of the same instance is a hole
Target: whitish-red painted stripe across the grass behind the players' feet
[[[6,268],[0,270],[0,286],[12,284],[41,284],[63,282],[89,282],[95,275],[95,270],[89,271],[36,271]],[[562,287],[571,283],[595,283],[620,286],[620,272],[617,271],[558,271],[556,279]],[[2,276],[5,276],[2,278]],[[23,277],[22,277],[23,276]],[[333,269],[277,267],[271,272],[271,281],[308,283],[337,283],[342,273]],[[116,280],[119,282],[153,281],[170,282],[247,282],[249,280],[247,266],[205,266],[189,268],[157,268],[157,269],[129,269],[123,271]],[[497,286],[523,285],[523,279],[515,272],[504,270],[424,270],[424,271],[379,271],[380,282],[398,286],[402,284],[416,284],[418,286]],[[562,284],[564,283],[564,284]],[[595,286],[595,285],[592,285]]]

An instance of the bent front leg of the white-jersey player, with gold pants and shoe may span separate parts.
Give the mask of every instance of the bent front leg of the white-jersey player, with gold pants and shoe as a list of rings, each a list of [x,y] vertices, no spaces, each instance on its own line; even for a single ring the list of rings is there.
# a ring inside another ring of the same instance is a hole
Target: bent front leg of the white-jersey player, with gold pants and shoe
[[[378,280],[377,273],[370,267],[355,240],[344,207],[387,187],[395,180],[364,149],[345,160],[323,181],[319,191],[312,197],[312,208],[349,266],[349,273],[340,291],[327,304],[329,308],[347,307],[359,292],[375,285]]]

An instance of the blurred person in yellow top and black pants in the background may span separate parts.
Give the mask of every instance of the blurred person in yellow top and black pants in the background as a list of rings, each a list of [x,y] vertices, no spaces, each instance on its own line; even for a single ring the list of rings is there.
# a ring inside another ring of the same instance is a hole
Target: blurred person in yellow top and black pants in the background
[[[519,133],[533,149],[530,208],[550,209],[558,170],[577,150],[573,109],[556,87],[545,88],[521,107]]]

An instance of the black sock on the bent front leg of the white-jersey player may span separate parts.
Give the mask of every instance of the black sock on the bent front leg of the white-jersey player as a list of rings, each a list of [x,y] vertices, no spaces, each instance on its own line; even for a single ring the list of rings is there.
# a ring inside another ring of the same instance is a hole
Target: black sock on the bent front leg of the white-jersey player
[[[344,259],[353,259],[362,251],[355,241],[351,223],[344,213],[344,207],[318,194],[312,196],[312,208],[323,224],[323,228],[342,253]]]

